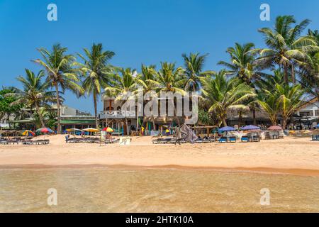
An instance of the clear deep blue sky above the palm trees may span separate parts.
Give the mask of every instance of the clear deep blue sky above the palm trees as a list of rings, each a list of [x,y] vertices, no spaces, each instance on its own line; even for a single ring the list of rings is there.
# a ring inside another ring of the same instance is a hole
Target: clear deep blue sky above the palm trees
[[[47,21],[47,5],[57,4],[58,21]],[[271,6],[271,20],[259,20],[259,6]],[[309,18],[319,29],[318,0],[0,0],[0,86],[16,86],[24,68],[41,68],[30,60],[36,48],[61,43],[69,53],[103,43],[116,56],[111,64],[140,68],[160,61],[182,65],[183,52],[209,53],[206,69],[219,70],[235,42],[262,47],[258,28],[273,26],[278,15]],[[65,104],[93,113],[91,97],[67,92]],[[101,110],[101,104],[99,104]]]

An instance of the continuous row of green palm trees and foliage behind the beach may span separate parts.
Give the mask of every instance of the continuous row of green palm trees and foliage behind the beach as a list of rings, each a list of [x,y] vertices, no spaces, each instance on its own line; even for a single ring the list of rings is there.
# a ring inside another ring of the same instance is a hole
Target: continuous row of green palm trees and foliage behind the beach
[[[4,87],[0,91],[0,117],[10,122],[10,116],[16,118],[22,109],[28,110],[37,126],[50,124],[60,133],[60,106],[65,91],[70,90],[77,96],[92,96],[98,128],[99,96],[104,93],[127,101],[128,94],[137,94],[140,86],[151,99],[160,92],[181,96],[198,92],[198,117],[204,124],[227,126],[230,113],[241,117],[252,111],[255,118],[261,110],[273,125],[280,119],[286,128],[299,106],[319,98],[319,33],[307,32],[309,24],[308,19],[297,23],[293,16],[278,16],[274,28],[259,29],[264,47],[235,43],[226,50],[229,59],[218,62],[224,67],[219,72],[208,70],[208,55],[198,52],[181,55],[183,66],[161,62],[159,67],[142,64],[140,70],[132,70],[110,65],[115,53],[103,50],[102,44],[93,44],[77,55],[69,54],[60,44],[52,50],[39,48],[41,58],[33,61],[40,65],[40,72],[35,75],[26,70],[25,77],[18,77],[22,89]],[[57,105],[53,114],[47,111],[50,104]],[[179,123],[179,118],[176,121]],[[125,125],[128,133],[126,117]]]

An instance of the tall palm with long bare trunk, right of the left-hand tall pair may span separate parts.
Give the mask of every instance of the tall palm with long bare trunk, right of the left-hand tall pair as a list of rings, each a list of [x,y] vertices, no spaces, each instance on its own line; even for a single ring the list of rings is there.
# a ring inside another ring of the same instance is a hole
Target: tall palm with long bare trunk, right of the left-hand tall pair
[[[115,55],[114,52],[106,50],[103,51],[101,43],[93,44],[91,50],[83,49],[85,57],[78,54],[84,61],[84,64],[79,62],[76,65],[79,66],[79,70],[82,72],[84,80],[82,87],[86,94],[93,96],[94,101],[94,116],[96,128],[99,128],[99,119],[97,114],[97,99],[101,94],[101,87],[105,88],[110,82],[109,74],[112,72],[112,67],[108,65],[108,61]]]

